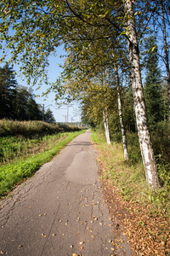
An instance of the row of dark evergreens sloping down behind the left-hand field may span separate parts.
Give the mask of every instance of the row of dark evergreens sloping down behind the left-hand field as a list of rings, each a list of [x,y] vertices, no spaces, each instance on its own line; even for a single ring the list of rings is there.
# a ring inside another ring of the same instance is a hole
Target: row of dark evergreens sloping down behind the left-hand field
[[[0,119],[44,120],[55,123],[54,115],[37,104],[31,90],[17,84],[14,70],[6,64],[0,67]]]

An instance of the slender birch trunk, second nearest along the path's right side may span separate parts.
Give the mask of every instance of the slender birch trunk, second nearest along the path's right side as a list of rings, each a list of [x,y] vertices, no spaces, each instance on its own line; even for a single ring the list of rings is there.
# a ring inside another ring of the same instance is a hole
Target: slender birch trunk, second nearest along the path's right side
[[[122,103],[121,103],[121,92],[120,92],[120,84],[119,84],[119,77],[117,68],[115,67],[116,72],[116,90],[117,90],[117,101],[118,101],[118,110],[119,110],[119,119],[121,124],[121,131],[122,131],[122,145],[124,150],[124,159],[128,160],[128,153],[127,153],[127,138],[126,138],[126,132],[123,125],[123,119],[122,119]]]

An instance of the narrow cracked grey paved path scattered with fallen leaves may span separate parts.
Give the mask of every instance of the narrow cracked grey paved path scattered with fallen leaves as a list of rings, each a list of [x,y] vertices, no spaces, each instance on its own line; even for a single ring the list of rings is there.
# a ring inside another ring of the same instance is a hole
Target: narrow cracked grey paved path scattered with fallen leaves
[[[115,255],[96,157],[87,131],[0,201],[0,254]],[[116,252],[133,255],[125,239]]]

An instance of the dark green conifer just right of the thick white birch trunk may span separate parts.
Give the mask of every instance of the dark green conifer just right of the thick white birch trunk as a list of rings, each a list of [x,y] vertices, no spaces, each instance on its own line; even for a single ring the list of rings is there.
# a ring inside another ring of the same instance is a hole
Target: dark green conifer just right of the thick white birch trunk
[[[150,36],[145,42],[147,54],[144,57],[146,77],[144,83],[144,98],[150,130],[156,128],[156,123],[163,120],[164,107],[161,88],[161,70],[157,55],[156,40]]]

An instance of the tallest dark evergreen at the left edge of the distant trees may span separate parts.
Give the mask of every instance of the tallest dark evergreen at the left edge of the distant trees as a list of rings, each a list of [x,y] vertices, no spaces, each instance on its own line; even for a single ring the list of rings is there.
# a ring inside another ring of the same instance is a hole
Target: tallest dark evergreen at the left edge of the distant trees
[[[16,95],[14,70],[6,64],[0,67],[0,119],[14,119],[14,97]]]

